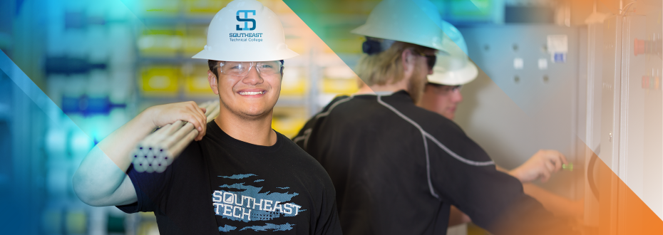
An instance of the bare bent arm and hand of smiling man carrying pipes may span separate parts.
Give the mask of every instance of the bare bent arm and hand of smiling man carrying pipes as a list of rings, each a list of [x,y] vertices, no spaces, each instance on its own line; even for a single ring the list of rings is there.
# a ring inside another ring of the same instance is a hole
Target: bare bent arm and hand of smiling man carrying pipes
[[[136,202],[135,189],[125,174],[131,164],[130,152],[156,127],[177,120],[191,122],[205,135],[205,109],[194,102],[150,107],[104,138],[86,155],[73,175],[73,189],[81,201],[95,207]]]

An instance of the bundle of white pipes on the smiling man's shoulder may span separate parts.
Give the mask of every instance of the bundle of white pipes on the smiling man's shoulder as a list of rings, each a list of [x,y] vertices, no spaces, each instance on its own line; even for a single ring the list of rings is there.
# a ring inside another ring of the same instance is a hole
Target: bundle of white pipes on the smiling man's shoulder
[[[218,101],[198,106],[207,109],[207,122],[219,115]],[[131,154],[133,168],[138,172],[164,172],[197,135],[198,130],[195,130],[193,124],[182,120],[161,127],[135,147]]]

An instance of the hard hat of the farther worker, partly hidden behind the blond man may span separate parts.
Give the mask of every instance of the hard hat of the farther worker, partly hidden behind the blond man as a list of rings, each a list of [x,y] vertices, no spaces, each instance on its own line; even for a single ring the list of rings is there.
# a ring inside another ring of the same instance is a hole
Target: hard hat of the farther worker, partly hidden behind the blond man
[[[438,53],[433,74],[428,75],[428,82],[441,85],[463,85],[471,82],[479,71],[468,59],[468,48],[463,35],[446,21],[442,21],[442,28],[445,33],[443,50],[446,54]]]

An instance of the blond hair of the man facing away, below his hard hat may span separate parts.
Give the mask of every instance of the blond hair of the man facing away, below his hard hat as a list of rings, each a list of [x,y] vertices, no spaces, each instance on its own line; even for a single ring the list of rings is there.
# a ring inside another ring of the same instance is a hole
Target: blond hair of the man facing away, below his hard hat
[[[396,41],[386,51],[374,55],[364,54],[359,59],[355,71],[366,85],[386,85],[398,83],[403,80],[403,51],[411,49],[423,52],[431,50],[425,46]]]

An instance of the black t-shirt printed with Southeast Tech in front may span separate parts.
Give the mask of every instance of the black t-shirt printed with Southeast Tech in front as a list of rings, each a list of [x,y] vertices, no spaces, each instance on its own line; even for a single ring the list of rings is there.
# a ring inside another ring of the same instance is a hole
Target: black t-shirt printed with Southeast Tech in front
[[[329,175],[277,136],[252,145],[210,122],[165,172],[130,167],[138,202],[118,208],[154,211],[161,234],[341,234]]]

